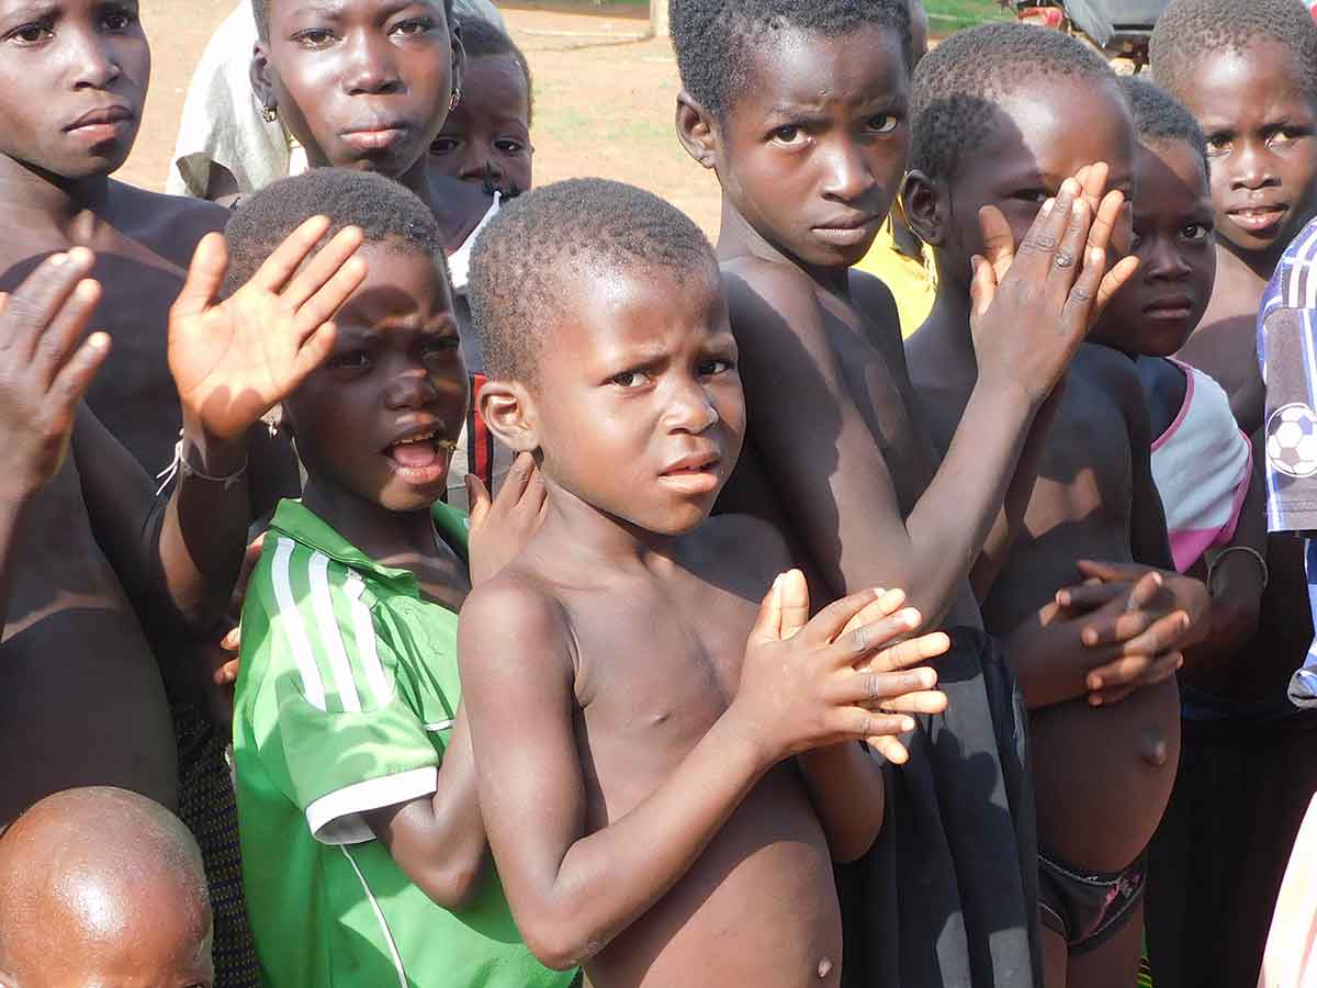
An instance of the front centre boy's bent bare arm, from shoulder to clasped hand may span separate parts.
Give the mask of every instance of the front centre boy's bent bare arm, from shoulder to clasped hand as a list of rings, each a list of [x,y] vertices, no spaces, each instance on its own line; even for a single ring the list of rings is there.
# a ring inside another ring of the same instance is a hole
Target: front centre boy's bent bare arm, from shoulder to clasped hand
[[[913,727],[861,703],[930,689],[932,671],[853,668],[898,634],[896,623],[838,638],[873,591],[824,609],[788,642],[778,640],[776,591],[777,584],[760,609],[727,711],[653,793],[594,833],[585,822],[566,615],[506,577],[468,598],[458,655],[481,809],[518,927],[544,963],[579,964],[644,914],[776,763]]]

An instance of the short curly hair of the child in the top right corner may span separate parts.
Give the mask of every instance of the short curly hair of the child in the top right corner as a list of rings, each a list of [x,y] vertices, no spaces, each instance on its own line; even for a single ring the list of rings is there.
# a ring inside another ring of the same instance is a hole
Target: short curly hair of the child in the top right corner
[[[1148,65],[1159,86],[1185,100],[1205,54],[1238,54],[1258,40],[1289,50],[1291,71],[1317,103],[1317,24],[1303,0],[1175,0],[1152,29]]]

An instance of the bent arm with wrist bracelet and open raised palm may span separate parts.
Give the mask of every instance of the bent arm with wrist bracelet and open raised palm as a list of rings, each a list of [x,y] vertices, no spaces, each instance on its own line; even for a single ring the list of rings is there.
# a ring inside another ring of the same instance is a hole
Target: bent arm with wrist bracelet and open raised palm
[[[216,303],[228,256],[202,240],[170,312],[170,371],[183,410],[178,482],[169,501],[90,412],[75,445],[97,539],[138,610],[163,606],[205,628],[225,609],[248,543],[246,436],[333,346],[329,319],[365,277],[361,232],[295,231],[248,285]],[[88,256],[90,257],[90,256]],[[90,262],[90,261],[88,261]],[[303,269],[303,270],[299,270]]]

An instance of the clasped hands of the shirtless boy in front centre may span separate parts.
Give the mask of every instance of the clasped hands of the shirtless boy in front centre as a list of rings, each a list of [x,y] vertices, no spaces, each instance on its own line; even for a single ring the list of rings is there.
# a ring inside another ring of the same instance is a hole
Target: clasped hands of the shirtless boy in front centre
[[[903,603],[900,591],[863,590],[806,620],[805,576],[784,573],[760,605],[727,715],[769,763],[853,740],[905,761],[896,736],[914,730],[910,715],[947,706],[938,673],[921,664],[950,640],[902,642],[922,620]]]

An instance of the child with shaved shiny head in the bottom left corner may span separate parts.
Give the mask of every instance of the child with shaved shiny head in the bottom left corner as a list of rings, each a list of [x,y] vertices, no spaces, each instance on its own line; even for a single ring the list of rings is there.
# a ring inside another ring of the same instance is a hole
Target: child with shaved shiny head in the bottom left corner
[[[0,839],[0,985],[211,988],[202,855],[169,810],[124,789],[67,789]]]

